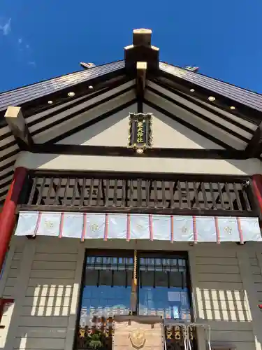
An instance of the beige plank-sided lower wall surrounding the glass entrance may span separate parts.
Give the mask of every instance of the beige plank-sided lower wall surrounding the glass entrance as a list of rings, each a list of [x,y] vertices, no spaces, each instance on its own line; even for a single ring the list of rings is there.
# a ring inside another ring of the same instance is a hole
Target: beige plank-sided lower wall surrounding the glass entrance
[[[212,328],[212,341],[238,350],[261,349],[261,244],[170,244],[15,237],[0,282],[5,310],[0,349],[72,349],[85,248],[187,250],[196,321]],[[200,337],[201,342],[201,337]]]

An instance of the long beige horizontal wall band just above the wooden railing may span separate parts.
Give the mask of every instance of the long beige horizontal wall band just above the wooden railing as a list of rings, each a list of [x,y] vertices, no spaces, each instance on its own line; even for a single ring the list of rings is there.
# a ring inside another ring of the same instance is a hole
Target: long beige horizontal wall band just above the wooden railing
[[[50,155],[21,152],[15,167],[27,169],[161,172],[180,174],[262,174],[260,160],[208,160],[184,158],[128,158],[93,155]]]

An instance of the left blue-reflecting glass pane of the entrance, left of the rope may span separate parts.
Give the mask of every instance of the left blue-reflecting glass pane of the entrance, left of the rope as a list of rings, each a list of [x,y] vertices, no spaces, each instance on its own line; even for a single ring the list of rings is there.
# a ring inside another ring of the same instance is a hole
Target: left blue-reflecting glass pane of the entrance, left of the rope
[[[94,316],[129,314],[133,258],[88,256],[82,291],[80,326]]]

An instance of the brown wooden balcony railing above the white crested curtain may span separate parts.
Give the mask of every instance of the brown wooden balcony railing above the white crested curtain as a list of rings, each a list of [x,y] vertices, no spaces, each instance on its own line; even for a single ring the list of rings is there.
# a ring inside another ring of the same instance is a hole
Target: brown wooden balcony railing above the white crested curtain
[[[258,216],[247,177],[31,172],[20,209]]]

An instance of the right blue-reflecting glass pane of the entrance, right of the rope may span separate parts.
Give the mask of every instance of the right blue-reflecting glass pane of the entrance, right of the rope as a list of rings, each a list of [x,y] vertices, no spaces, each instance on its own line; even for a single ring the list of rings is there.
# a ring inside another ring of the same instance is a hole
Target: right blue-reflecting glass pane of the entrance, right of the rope
[[[190,321],[187,263],[184,258],[140,258],[140,315]]]

